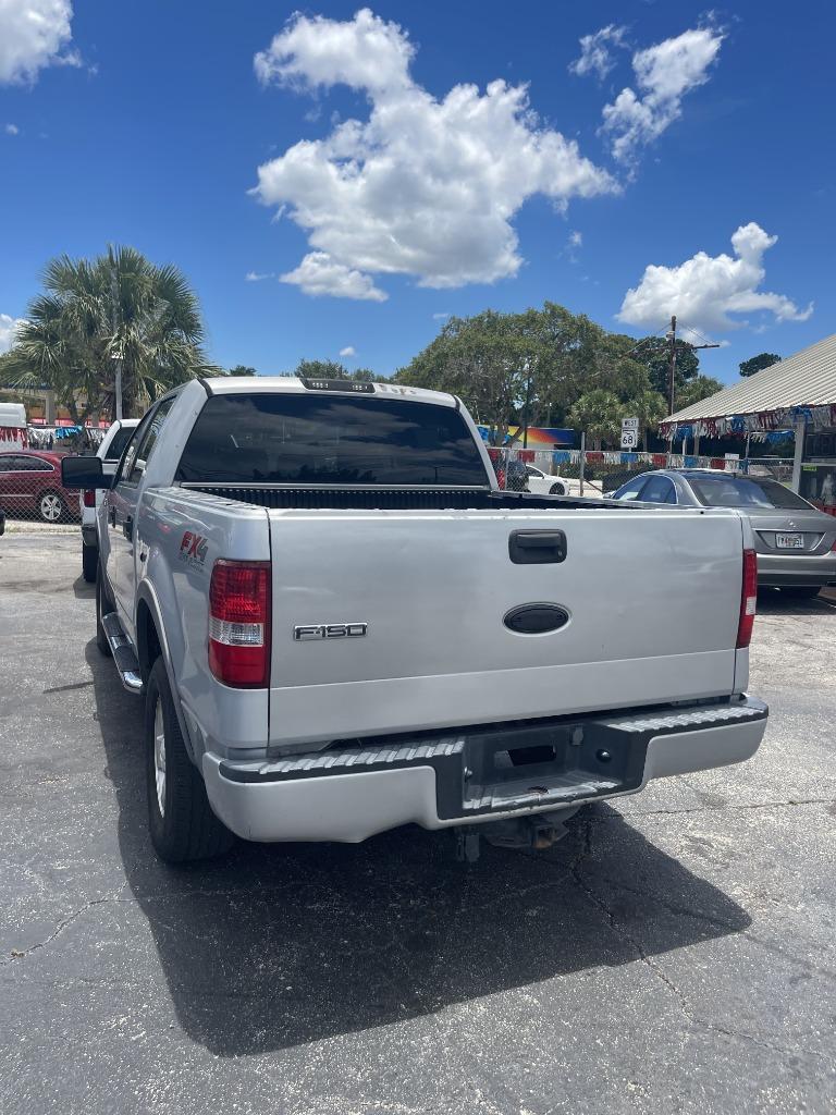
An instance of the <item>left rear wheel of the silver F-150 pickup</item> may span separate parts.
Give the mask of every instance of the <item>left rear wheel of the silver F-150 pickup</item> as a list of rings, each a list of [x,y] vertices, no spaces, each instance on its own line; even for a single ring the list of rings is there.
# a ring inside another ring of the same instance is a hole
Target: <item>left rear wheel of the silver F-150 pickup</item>
[[[162,860],[207,860],[232,846],[234,837],[212,812],[186,753],[162,658],[152,667],[145,697],[145,770],[150,840]]]

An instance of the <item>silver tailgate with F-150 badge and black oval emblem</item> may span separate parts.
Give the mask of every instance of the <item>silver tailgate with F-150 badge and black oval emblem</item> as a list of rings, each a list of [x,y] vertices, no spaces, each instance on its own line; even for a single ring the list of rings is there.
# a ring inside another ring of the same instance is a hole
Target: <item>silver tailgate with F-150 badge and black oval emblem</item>
[[[732,692],[735,513],[557,505],[269,517],[273,747]],[[565,556],[531,564],[524,551],[515,563],[516,531],[562,531]],[[506,626],[529,603],[568,619],[537,634]],[[319,626],[329,637],[295,632]]]

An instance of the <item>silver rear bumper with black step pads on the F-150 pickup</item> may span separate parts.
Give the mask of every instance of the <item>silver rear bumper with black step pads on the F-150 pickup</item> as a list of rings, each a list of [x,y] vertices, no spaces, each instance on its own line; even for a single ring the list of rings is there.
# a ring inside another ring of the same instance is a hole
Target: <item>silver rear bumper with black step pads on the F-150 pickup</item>
[[[742,763],[758,749],[767,716],[761,701],[741,697],[373,740],[272,763],[206,753],[203,776],[213,809],[240,836],[357,843],[409,823],[445,828],[553,812],[636,793],[652,778]],[[508,755],[519,748],[539,760],[513,766]]]

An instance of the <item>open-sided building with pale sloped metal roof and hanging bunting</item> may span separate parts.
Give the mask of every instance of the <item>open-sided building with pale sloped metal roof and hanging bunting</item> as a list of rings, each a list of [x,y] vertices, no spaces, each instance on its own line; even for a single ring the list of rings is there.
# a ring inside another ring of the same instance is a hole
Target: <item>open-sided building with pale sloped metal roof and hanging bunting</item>
[[[793,430],[791,486],[836,515],[836,333],[667,418],[671,443]]]

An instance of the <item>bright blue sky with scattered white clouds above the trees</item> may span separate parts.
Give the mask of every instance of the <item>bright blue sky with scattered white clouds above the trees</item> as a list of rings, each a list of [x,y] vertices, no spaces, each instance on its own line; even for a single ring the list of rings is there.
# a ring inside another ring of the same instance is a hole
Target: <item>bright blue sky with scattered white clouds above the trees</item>
[[[54,255],[183,269],[211,358],[379,376],[548,299],[758,352],[836,331],[828,0],[0,0],[0,351]]]

